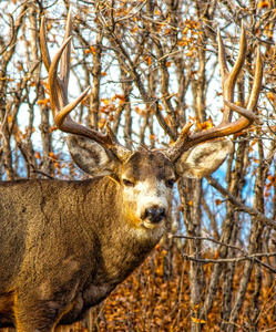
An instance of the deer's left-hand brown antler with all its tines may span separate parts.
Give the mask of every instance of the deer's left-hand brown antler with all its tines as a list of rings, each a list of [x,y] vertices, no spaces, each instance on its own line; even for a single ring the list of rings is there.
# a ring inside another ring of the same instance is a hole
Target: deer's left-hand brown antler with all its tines
[[[45,38],[45,23],[42,19],[41,24],[41,53],[44,65],[49,72],[49,90],[50,90],[50,103],[53,113],[53,118],[57,127],[64,132],[74,135],[80,135],[95,141],[103,147],[112,151],[114,155],[120,160],[125,160],[132,154],[131,151],[125,148],[119,143],[114,133],[108,125],[106,132],[104,135],[99,133],[90,127],[74,122],[69,115],[80,102],[86,96],[90,86],[86,87],[73,102],[68,103],[68,82],[69,82],[69,71],[70,71],[70,42],[72,39],[72,11],[69,11],[69,18],[67,22],[67,33],[64,42],[54,55],[52,62],[49,55],[49,50],[47,46]],[[58,76],[58,68],[60,64],[60,76]]]

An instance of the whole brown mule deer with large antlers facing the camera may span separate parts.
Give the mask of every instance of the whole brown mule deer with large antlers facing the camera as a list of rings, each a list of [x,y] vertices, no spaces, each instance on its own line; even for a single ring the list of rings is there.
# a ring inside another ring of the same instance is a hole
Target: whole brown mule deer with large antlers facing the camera
[[[164,234],[174,183],[182,176],[202,178],[217,169],[232,143],[211,139],[254,122],[262,85],[258,52],[247,107],[233,104],[246,55],[245,30],[231,72],[218,33],[226,104],[222,123],[195,134],[188,133],[191,124],[186,124],[167,148],[129,151],[110,126],[102,134],[69,115],[89,92],[68,103],[71,21],[70,12],[64,42],[51,61],[43,20],[41,51],[55,125],[73,134],[68,138],[70,153],[92,178],[0,185],[0,328],[16,326],[19,332],[50,332],[58,324],[80,320],[144,261]],[[241,115],[237,121],[231,122],[231,110]]]

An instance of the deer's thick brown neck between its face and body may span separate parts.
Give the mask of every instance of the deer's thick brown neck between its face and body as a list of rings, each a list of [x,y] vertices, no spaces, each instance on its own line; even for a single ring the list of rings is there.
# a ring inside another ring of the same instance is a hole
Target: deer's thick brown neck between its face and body
[[[119,283],[144,261],[160,241],[165,226],[154,229],[144,228],[124,208],[120,186],[109,177],[98,181],[99,185],[95,186],[99,187],[98,198],[102,198],[98,203],[98,210],[100,210],[101,201],[102,205],[99,220],[93,222],[93,226],[98,228],[93,234],[98,235],[101,263],[104,267],[104,271],[99,269],[98,272],[100,279],[108,278]],[[91,194],[93,195],[93,191]],[[105,277],[103,277],[104,273]]]

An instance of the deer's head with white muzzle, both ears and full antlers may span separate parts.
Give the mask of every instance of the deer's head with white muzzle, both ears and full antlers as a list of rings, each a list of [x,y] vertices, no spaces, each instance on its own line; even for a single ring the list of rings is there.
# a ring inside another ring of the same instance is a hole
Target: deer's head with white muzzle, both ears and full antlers
[[[202,178],[217,169],[233,148],[229,141],[217,138],[241,132],[255,121],[253,111],[258,101],[263,76],[259,51],[252,93],[244,108],[234,104],[234,89],[246,55],[245,29],[242,29],[239,53],[231,72],[227,70],[225,49],[218,31],[218,61],[225,103],[222,123],[194,134],[190,134],[192,124],[187,123],[168,148],[132,152],[120,144],[109,124],[106,134],[102,134],[75,123],[70,116],[70,112],[86,96],[90,89],[73,102],[68,102],[71,27],[70,11],[64,42],[51,61],[42,20],[41,50],[49,71],[54,123],[60,131],[73,134],[68,138],[68,146],[75,164],[91,176],[109,176],[121,188],[123,206],[130,219],[136,225],[154,228],[165,220],[174,183],[182,176]],[[241,115],[234,122],[232,111]]]

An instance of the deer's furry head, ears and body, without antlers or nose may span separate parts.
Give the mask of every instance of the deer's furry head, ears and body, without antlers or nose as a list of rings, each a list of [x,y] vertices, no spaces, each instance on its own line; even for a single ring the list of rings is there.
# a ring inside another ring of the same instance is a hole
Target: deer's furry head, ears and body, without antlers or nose
[[[74,137],[69,148],[75,163],[99,177],[0,183],[0,328],[50,332],[103,301],[162,237],[170,183],[183,169],[188,176],[214,170],[227,156],[217,153],[223,144],[211,145],[176,164],[150,151],[123,163]],[[154,208],[162,208],[161,220],[149,219],[147,209]]]

